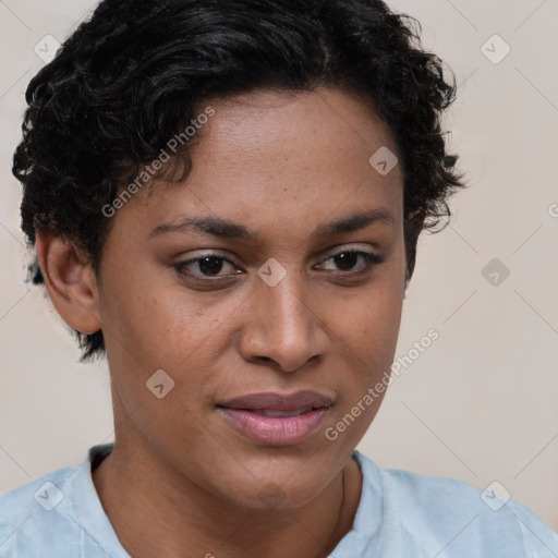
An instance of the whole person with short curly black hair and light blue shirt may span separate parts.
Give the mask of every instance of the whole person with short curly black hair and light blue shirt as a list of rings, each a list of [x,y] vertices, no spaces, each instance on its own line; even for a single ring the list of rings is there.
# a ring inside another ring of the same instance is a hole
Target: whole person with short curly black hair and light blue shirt
[[[558,555],[523,506],[354,451],[462,186],[415,39],[377,0],[105,0],[34,77],[32,275],[106,353],[116,439],[0,497],[2,556]]]

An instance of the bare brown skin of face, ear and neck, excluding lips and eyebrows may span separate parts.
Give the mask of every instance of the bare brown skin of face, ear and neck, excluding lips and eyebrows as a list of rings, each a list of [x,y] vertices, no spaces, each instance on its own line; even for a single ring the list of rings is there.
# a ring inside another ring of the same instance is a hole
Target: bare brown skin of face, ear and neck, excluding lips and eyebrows
[[[379,147],[397,147],[369,107],[333,89],[210,105],[192,173],[117,211],[98,276],[64,239],[37,239],[58,312],[82,332],[104,331],[116,444],[94,483],[134,558],[325,557],[351,529],[362,481],[351,452],[381,399],[337,440],[325,429],[389,371],[399,332],[402,172],[383,177],[368,163]],[[393,221],[313,236],[325,221],[377,208]],[[149,236],[179,215],[231,220],[260,239],[193,229]],[[332,256],[349,248],[386,259],[367,271],[362,257],[343,267]],[[217,270],[228,278],[204,280],[196,263],[173,267],[203,251],[228,260]],[[275,287],[256,275],[269,258],[287,270]],[[174,380],[161,399],[146,388],[157,369]],[[250,440],[216,407],[303,389],[333,404],[292,446]],[[275,505],[262,497],[270,489],[280,494]]]

